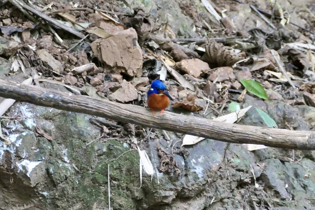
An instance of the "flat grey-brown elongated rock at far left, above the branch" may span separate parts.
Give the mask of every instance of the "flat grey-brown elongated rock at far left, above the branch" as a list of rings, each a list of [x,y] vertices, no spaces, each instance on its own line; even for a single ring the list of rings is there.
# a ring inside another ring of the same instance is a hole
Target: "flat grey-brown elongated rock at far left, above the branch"
[[[47,52],[45,49],[37,50],[36,54],[38,55],[39,59],[43,62],[43,65],[50,70],[53,70],[57,73],[63,72],[63,66],[60,61],[54,59],[54,57]]]

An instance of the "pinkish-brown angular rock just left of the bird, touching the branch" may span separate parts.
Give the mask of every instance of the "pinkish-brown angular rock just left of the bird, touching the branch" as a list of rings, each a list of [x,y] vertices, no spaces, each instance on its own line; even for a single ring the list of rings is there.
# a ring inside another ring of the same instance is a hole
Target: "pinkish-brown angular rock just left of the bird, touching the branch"
[[[137,99],[138,93],[135,87],[124,79],[121,84],[121,88],[116,90],[110,96],[113,100],[124,103]]]

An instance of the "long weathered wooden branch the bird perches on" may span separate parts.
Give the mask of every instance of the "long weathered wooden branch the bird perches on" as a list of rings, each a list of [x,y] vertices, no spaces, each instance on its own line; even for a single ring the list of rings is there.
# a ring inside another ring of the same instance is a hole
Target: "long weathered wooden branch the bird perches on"
[[[163,112],[153,116],[144,107],[89,96],[73,95],[60,90],[16,84],[0,79],[0,96],[44,107],[84,113],[144,127],[191,134],[230,143],[264,144],[270,147],[315,150],[315,131],[290,131],[237,125]]]

